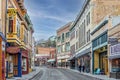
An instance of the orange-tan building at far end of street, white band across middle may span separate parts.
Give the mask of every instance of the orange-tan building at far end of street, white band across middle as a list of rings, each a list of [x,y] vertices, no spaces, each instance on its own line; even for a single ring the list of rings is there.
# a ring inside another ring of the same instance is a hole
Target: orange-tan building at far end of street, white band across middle
[[[35,56],[35,66],[46,66],[47,61],[50,58],[50,52],[54,50],[54,48],[48,47],[37,47],[37,53]]]

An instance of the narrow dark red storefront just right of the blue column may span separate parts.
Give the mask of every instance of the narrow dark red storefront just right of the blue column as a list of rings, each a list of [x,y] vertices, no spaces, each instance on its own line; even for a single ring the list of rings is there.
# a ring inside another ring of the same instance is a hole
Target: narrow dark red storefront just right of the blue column
[[[28,51],[23,50],[21,53],[22,53],[22,74],[28,74],[29,72]]]

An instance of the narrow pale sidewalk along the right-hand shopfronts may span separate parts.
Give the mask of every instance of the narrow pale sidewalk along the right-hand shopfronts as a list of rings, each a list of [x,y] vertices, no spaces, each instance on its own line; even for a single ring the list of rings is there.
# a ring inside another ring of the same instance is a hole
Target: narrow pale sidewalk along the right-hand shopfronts
[[[69,70],[80,73],[78,70],[74,70],[74,69],[69,69]],[[97,78],[97,79],[100,79],[100,80],[120,80],[120,79],[109,78],[106,75],[93,75],[91,73],[84,73],[84,72],[81,72],[80,74],[90,76],[90,77],[93,77],[93,78]]]

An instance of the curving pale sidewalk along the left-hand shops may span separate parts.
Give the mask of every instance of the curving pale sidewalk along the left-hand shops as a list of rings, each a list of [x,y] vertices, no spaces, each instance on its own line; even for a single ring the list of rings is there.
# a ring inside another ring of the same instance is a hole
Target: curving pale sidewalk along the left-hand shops
[[[26,75],[22,75],[22,77],[13,77],[13,78],[6,79],[6,80],[29,80],[32,77],[34,77],[36,74],[38,74],[41,70],[40,67],[35,67],[35,69],[36,69],[35,71],[32,71],[31,73],[26,74]]]

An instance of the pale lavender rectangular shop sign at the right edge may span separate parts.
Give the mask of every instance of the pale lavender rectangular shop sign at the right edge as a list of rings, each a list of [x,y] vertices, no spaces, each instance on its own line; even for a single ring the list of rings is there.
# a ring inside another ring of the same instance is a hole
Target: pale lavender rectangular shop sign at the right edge
[[[110,56],[120,55],[120,43],[110,47]]]

